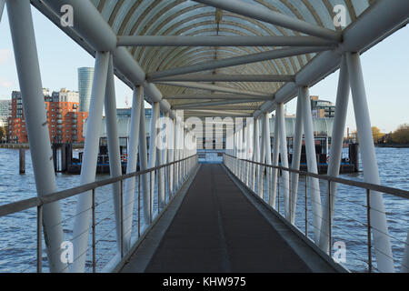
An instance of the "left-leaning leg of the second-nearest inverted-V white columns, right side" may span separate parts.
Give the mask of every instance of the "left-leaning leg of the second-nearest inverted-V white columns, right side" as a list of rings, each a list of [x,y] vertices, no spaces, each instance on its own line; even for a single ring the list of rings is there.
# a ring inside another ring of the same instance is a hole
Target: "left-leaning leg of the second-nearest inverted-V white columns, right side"
[[[291,168],[293,170],[300,170],[301,147],[303,143],[303,110],[300,95],[300,92],[298,92],[293,137],[293,160],[291,162]],[[297,205],[298,176],[297,173],[291,173],[290,221],[293,225],[295,222],[295,207]]]

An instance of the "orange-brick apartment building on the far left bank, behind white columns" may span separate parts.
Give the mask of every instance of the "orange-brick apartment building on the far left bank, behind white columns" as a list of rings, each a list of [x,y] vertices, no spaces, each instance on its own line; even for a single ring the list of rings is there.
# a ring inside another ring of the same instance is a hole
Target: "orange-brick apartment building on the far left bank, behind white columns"
[[[51,143],[84,143],[83,125],[87,112],[79,111],[77,92],[61,89],[50,95],[43,90]],[[21,93],[12,93],[11,117],[8,120],[9,142],[28,143]]]

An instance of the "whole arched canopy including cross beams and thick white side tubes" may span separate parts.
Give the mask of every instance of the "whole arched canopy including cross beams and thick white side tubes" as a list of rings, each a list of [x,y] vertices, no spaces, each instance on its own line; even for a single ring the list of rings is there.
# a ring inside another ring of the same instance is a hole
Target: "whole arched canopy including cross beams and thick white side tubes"
[[[345,52],[362,52],[402,27],[408,5],[387,0],[31,2],[56,25],[61,5],[73,5],[75,26],[62,27],[65,33],[92,55],[112,51],[115,75],[131,87],[142,85],[145,98],[160,102],[172,118],[173,106],[189,100],[166,95],[263,95],[267,101],[244,105],[258,106],[255,117],[271,112],[291,100],[298,86],[333,73]],[[346,26],[334,25],[335,5],[343,5]],[[179,75],[183,72],[197,73]],[[256,82],[256,75],[265,76]]]

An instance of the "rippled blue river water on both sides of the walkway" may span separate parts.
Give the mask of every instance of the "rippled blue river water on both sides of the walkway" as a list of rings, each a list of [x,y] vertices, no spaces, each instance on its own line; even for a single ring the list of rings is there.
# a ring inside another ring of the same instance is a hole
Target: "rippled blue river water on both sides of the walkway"
[[[77,152],[75,153],[77,155]],[[346,154],[345,154],[346,155]],[[379,172],[382,185],[409,190],[409,148],[376,148]],[[31,156],[26,151],[25,175],[18,174],[18,150],[0,149],[0,205],[23,200],[36,196],[35,178]],[[98,175],[97,179],[107,176]],[[363,180],[362,172],[343,175],[342,177],[354,180]],[[55,175],[58,190],[79,186],[77,175]],[[137,186],[137,184],[136,184]],[[304,182],[300,179],[299,195],[297,199],[295,225],[304,231]],[[327,192],[327,185],[320,182],[322,200]],[[96,193],[97,216],[97,270],[102,270],[105,264],[114,256],[115,246],[115,219],[112,203],[111,186],[99,188]],[[281,189],[283,191],[283,189]],[[62,209],[63,228],[65,236],[72,236],[76,198],[65,199],[60,203]],[[156,201],[156,200],[155,200]],[[280,197],[281,212],[284,202]],[[365,191],[351,186],[338,186],[334,212],[333,241],[341,241],[346,247],[346,262],[344,266],[352,271],[364,272],[367,268],[366,248],[366,196]],[[394,262],[397,270],[400,268],[404,252],[406,231],[409,225],[409,201],[403,198],[384,195],[385,212],[393,246]],[[135,202],[135,207],[137,203]],[[311,202],[307,202],[311,209]],[[135,214],[137,211],[135,211]],[[310,237],[314,237],[311,211],[307,215],[307,227]],[[143,216],[142,216],[143,217]],[[137,225],[137,215],[133,217]],[[35,272],[35,209],[17,213],[11,216],[0,217],[0,272]],[[141,218],[141,224],[144,221]],[[245,230],[244,230],[245,231]],[[133,236],[135,236],[135,231]],[[373,248],[374,267],[376,250]],[[86,270],[91,268],[91,252],[87,252]],[[43,263],[47,266],[44,252]]]

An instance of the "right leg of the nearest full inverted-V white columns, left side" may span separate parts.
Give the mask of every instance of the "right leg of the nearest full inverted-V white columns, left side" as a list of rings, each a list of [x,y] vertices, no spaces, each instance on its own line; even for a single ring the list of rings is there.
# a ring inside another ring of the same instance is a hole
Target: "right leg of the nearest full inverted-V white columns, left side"
[[[105,124],[108,137],[108,156],[109,156],[109,171],[110,176],[121,176],[121,156],[119,153],[119,137],[118,137],[118,122],[116,120],[116,98],[115,98],[115,83],[114,83],[114,66],[112,55],[109,57],[108,74],[106,77],[105,88]],[[113,200],[115,209],[115,226],[116,226],[116,246],[118,251],[121,249],[121,183],[113,184]],[[125,201],[125,200],[124,200]],[[126,205],[126,204],[125,204]],[[123,208],[124,209],[124,208]],[[125,210],[125,209],[124,209]],[[124,211],[126,214],[126,212]],[[125,219],[124,215],[124,219]],[[127,219],[129,220],[129,219]],[[131,219],[132,222],[132,219]],[[124,232],[125,234],[125,232]]]

